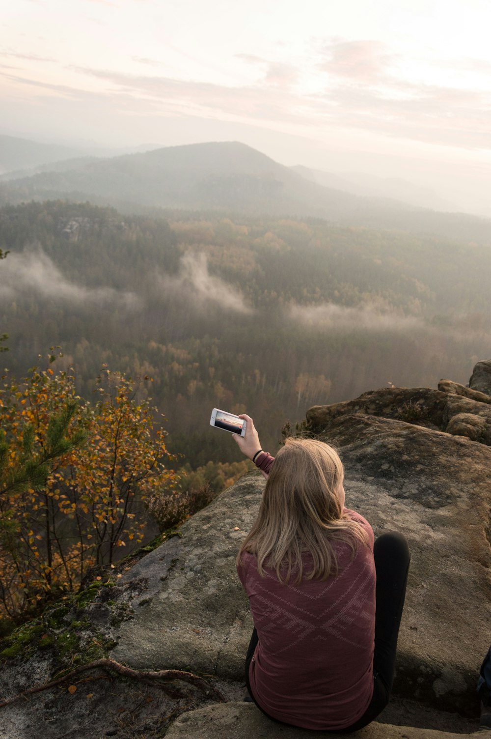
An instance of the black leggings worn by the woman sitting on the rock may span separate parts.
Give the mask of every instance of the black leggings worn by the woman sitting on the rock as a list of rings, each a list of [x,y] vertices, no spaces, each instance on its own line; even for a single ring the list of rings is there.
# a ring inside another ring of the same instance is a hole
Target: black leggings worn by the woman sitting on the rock
[[[394,665],[396,661],[397,636],[401,623],[402,608],[408,582],[408,570],[411,554],[408,542],[402,534],[389,531],[381,534],[374,544],[375,570],[377,571],[377,587],[375,601],[375,647],[374,647],[374,692],[368,708],[361,718],[346,729],[337,729],[343,734],[363,729],[382,712],[388,704],[394,682]],[[258,633],[254,629],[250,638],[245,661],[245,679],[247,690],[258,708],[261,706],[253,696],[249,682],[249,666],[258,644]],[[267,715],[265,711],[263,711]],[[269,718],[272,718],[269,716]],[[272,719],[276,721],[276,719]],[[279,721],[278,723],[282,723]]]

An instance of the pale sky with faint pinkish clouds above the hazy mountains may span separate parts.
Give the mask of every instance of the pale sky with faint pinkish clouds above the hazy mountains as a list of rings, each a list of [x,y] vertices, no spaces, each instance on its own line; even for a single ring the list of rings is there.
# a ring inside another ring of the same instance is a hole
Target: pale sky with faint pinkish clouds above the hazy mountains
[[[240,140],[489,205],[490,0],[0,0],[0,132]],[[491,209],[490,209],[491,214]]]

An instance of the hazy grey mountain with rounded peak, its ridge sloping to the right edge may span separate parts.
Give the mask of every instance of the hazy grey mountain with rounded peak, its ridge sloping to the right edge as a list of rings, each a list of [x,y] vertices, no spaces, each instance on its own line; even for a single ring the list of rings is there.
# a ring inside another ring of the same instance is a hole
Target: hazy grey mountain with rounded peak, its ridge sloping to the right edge
[[[306,180],[242,143],[202,143],[80,161],[0,187],[0,202],[69,198],[100,204],[219,209],[317,217],[491,242],[491,220],[444,214],[379,197],[361,197]]]

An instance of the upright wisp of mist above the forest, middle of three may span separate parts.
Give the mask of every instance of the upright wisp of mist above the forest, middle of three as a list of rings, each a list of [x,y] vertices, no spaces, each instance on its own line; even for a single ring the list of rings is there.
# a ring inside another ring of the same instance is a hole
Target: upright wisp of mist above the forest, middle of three
[[[195,304],[214,303],[236,313],[253,313],[241,290],[215,275],[210,275],[203,253],[188,252],[182,257],[179,276],[160,275],[157,283],[159,289],[165,290],[167,294],[171,291]]]

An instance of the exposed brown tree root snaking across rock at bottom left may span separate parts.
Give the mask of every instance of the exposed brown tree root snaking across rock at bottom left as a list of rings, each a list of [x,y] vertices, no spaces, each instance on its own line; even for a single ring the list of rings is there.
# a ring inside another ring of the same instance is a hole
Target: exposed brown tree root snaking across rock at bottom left
[[[7,698],[7,701],[3,701],[3,703],[0,703],[0,708],[8,706],[11,703],[14,703],[14,701],[18,701],[19,698],[26,698],[27,695],[33,695],[34,693],[41,692],[41,690],[47,690],[49,688],[55,687],[56,685],[60,685],[67,680],[75,678],[76,675],[80,675],[80,672],[93,670],[95,669],[95,667],[102,667],[103,670],[113,670],[114,672],[117,672],[118,675],[123,675],[126,678],[134,678],[135,680],[140,680],[145,683],[151,682],[151,684],[154,684],[154,681],[157,680],[184,680],[191,685],[195,685],[202,692],[204,692],[205,695],[210,695],[210,697],[213,696],[214,698],[216,698],[217,701],[223,702],[225,700],[224,696],[219,690],[212,687],[210,684],[207,683],[206,680],[203,680],[203,678],[199,678],[198,675],[194,675],[193,672],[184,672],[183,670],[132,670],[131,667],[125,667],[123,664],[120,664],[120,662],[116,662],[114,659],[106,658],[96,659],[93,662],[89,662],[89,664],[82,664],[80,665],[80,667],[75,667],[75,670],[67,672],[67,674],[63,675],[62,678],[52,680],[49,683],[44,683],[44,685],[38,685],[38,687],[30,688],[29,690],[24,690],[17,695],[13,695],[12,698]],[[166,692],[169,692],[169,694],[173,698],[178,697],[177,694],[173,694],[171,690],[166,690]],[[179,697],[182,696],[179,695]]]

